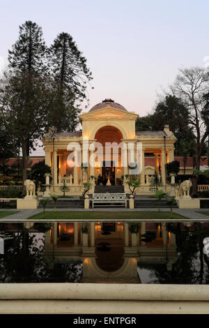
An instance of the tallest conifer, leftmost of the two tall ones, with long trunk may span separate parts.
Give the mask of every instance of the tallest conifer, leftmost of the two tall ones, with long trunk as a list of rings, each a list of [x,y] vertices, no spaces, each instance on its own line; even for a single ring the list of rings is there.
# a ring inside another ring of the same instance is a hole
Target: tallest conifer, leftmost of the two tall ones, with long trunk
[[[14,86],[14,81],[15,84],[17,84],[17,79],[15,79],[15,76],[19,77],[20,80],[22,80],[22,77],[26,79],[27,85],[22,83],[21,87],[23,93],[22,98],[24,98],[24,101],[27,104],[34,102],[34,79],[37,82],[47,73],[46,54],[47,47],[42,37],[42,28],[35,22],[26,21],[20,26],[19,38],[12,46],[12,49],[8,50],[8,68],[11,75],[14,77],[13,79],[9,78],[8,80],[9,84]],[[20,97],[20,85],[18,85],[16,96],[17,98]],[[15,107],[13,107],[13,109],[14,108]],[[23,108],[22,114],[24,114]],[[31,118],[29,118],[29,114],[31,114]],[[29,110],[26,116],[31,124],[33,124],[33,113]],[[20,124],[20,122],[18,124]],[[26,126],[22,126],[23,130],[24,128],[27,129]],[[18,128],[16,130],[18,131]],[[26,179],[26,157],[29,156],[30,149],[33,149],[34,141],[33,133],[26,133],[26,135],[27,139],[25,140],[24,137],[24,144],[22,144],[22,133],[19,135],[22,147],[22,169],[24,179]],[[18,135],[15,132],[15,138],[16,137],[18,138]]]

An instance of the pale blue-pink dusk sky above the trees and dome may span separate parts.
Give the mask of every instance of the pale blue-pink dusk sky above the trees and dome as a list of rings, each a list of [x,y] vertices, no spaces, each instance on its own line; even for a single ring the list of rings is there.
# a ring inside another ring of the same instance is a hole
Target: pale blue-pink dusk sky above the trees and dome
[[[113,98],[143,116],[178,68],[207,65],[209,1],[1,0],[0,10],[1,66],[26,20],[47,45],[68,32],[93,73],[89,107]]]

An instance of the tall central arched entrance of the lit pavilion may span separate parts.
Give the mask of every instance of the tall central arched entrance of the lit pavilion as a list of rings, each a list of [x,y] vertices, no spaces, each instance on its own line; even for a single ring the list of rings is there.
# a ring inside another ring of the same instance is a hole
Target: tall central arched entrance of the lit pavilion
[[[95,140],[100,142],[103,147],[103,162],[100,169],[102,184],[107,184],[108,177],[111,185],[118,184],[121,178],[121,147],[118,147],[118,150],[115,148],[116,152],[114,153],[111,144],[114,143],[114,147],[116,147],[116,144],[121,144],[122,139],[123,134],[115,126],[102,126],[95,133]],[[114,154],[118,154],[118,161]]]

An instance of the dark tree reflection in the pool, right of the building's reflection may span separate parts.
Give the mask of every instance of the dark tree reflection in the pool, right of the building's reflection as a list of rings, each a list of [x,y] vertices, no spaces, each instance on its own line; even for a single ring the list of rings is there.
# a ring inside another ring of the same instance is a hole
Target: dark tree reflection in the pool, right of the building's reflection
[[[194,223],[194,231],[180,223],[169,223],[167,229],[176,234],[178,259],[172,264],[171,271],[157,267],[155,276],[158,283],[209,283],[209,258],[203,253],[203,239],[208,237],[209,228],[201,229],[201,223]]]

